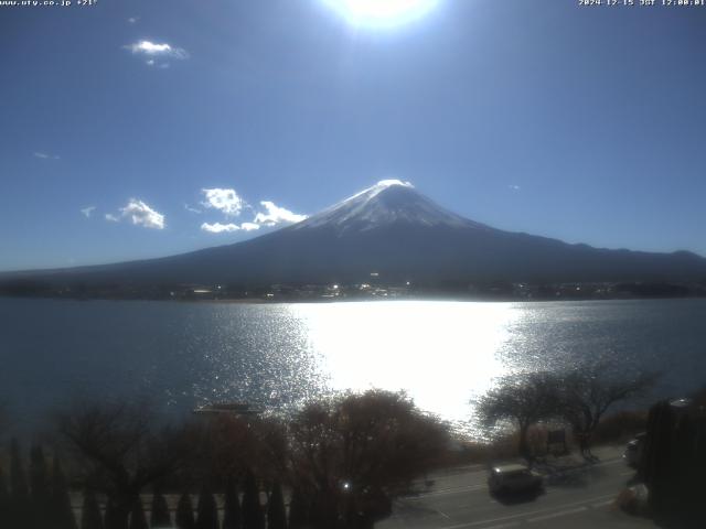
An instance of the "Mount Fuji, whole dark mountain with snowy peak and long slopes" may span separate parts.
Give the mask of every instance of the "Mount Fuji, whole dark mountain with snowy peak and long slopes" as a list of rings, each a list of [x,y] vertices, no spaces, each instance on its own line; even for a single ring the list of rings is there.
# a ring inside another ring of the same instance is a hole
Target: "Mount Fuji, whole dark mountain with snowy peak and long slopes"
[[[22,276],[54,283],[266,285],[353,283],[371,273],[388,283],[703,281],[706,259],[687,251],[609,250],[495,229],[445,209],[409,183],[389,180],[247,241]]]

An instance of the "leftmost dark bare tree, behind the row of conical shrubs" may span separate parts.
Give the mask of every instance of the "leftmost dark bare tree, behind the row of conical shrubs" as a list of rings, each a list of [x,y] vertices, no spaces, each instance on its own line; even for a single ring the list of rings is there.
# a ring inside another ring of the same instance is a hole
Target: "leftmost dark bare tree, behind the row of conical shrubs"
[[[183,436],[154,430],[137,406],[78,404],[57,415],[58,431],[81,464],[83,481],[111,501],[114,522],[126,528],[140,492],[178,469],[188,451]]]

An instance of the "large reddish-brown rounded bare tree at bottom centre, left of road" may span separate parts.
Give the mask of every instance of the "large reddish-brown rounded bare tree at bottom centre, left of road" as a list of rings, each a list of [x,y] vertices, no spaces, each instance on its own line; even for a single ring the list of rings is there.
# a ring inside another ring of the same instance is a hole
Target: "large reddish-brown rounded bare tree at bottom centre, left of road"
[[[290,428],[293,482],[313,527],[372,527],[446,450],[448,430],[403,393],[367,391],[308,406]]]

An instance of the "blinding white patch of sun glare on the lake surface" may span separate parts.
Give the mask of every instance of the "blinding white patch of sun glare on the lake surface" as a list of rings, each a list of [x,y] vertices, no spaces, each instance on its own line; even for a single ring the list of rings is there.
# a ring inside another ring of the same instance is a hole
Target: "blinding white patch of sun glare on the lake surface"
[[[511,304],[377,302],[290,305],[334,390],[405,390],[452,421],[506,369],[496,356],[517,317]]]

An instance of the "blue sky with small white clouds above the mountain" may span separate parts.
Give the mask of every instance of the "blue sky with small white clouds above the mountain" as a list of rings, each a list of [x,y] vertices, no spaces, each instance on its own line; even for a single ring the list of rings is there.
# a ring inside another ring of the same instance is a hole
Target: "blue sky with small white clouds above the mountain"
[[[244,240],[383,179],[706,255],[706,8],[438,0],[371,26],[335,1],[0,7],[0,270]]]

